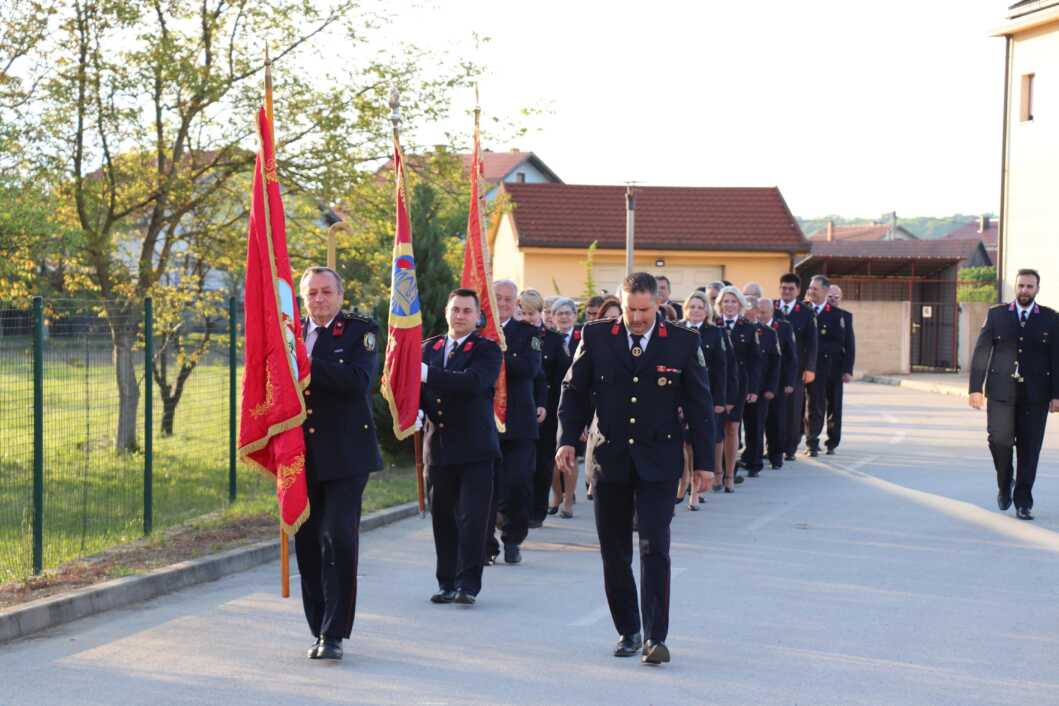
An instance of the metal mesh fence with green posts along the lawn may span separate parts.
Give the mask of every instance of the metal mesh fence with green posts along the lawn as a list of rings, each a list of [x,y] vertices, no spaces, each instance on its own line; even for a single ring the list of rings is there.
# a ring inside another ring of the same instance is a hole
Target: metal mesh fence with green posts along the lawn
[[[38,405],[32,304],[0,304],[0,583],[222,509],[232,496],[229,376],[241,355],[230,356],[238,337],[226,307],[151,316],[149,346],[144,302],[52,300],[42,312]],[[235,477],[240,499],[273,492],[264,475]]]

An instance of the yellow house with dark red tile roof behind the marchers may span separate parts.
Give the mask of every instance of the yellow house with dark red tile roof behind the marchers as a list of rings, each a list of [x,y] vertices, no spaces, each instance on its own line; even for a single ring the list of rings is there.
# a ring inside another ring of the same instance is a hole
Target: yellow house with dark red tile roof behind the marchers
[[[625,276],[626,187],[510,183],[495,222],[493,276],[545,295],[579,295],[589,246],[594,278],[614,292]],[[805,239],[776,187],[636,186],[635,269],[665,274],[682,301],[715,279],[758,282],[774,291]]]

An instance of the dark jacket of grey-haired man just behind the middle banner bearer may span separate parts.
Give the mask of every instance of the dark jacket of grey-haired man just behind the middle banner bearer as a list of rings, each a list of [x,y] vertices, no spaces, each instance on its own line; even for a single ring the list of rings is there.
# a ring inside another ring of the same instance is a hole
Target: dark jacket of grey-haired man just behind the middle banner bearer
[[[537,392],[534,381],[541,374],[540,337],[537,327],[509,319],[504,325],[504,366],[507,380],[507,420],[501,438],[535,439]]]

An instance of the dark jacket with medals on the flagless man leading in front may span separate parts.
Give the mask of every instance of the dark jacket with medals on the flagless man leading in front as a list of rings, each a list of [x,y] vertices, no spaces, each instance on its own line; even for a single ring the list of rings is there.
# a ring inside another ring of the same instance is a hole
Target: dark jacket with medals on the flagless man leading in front
[[[713,470],[713,415],[698,336],[659,319],[644,355],[633,358],[625,324],[605,319],[585,326],[563,380],[559,443],[576,446],[591,421],[600,479],[671,481],[683,471],[685,422],[695,468]]]

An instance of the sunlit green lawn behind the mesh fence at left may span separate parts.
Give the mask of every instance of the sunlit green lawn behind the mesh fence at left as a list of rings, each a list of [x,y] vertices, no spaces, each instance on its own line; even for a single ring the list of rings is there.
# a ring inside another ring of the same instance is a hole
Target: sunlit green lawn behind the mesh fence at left
[[[32,357],[18,342],[0,346],[0,583],[32,573]],[[142,452],[118,453],[118,390],[109,343],[49,341],[44,361],[44,567],[143,535]],[[162,529],[228,506],[227,351],[192,374],[174,434],[160,431],[154,395],[154,527]],[[143,443],[143,365],[139,439]],[[241,370],[237,380],[241,384]],[[238,505],[274,506],[273,484],[246,466],[237,472]],[[384,473],[369,484],[364,510],[415,496],[412,473]]]

